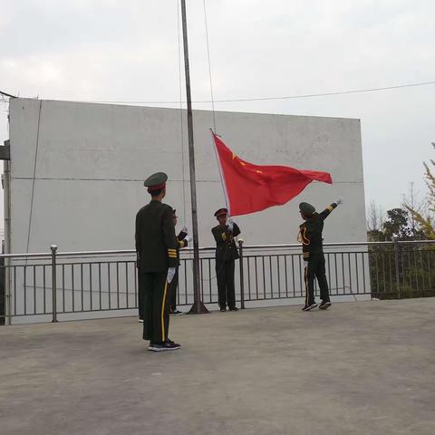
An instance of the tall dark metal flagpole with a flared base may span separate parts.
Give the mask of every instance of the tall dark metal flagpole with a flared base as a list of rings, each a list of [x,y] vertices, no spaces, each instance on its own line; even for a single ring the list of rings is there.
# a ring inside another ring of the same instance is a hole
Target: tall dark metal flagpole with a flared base
[[[197,215],[197,179],[195,176],[195,150],[193,146],[193,116],[192,101],[190,96],[189,73],[189,47],[188,23],[186,18],[186,0],[181,0],[181,21],[183,24],[184,69],[186,75],[186,99],[188,102],[188,138],[189,138],[189,169],[190,169],[190,199],[192,206],[192,231],[193,231],[193,305],[189,314],[208,313],[208,309],[201,301],[199,282],[199,245],[198,245],[198,215]]]

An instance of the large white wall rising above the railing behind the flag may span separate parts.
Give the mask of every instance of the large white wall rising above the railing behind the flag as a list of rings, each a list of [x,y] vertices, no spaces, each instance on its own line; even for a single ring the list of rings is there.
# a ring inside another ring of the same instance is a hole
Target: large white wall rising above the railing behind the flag
[[[180,116],[175,109],[11,99],[11,252],[47,251],[53,243],[60,251],[133,248],[135,214],[149,201],[142,182],[158,170],[169,174],[165,202],[182,225],[189,155],[183,125],[183,168]],[[326,221],[325,242],[366,240],[359,120],[217,112],[216,121],[244,160],[333,177],[333,186],[312,183],[285,206],[235,219],[247,245],[295,243],[298,203],[324,208],[337,197],[345,204]],[[225,206],[212,126],[212,112],[194,112],[200,246],[213,245],[213,213]]]

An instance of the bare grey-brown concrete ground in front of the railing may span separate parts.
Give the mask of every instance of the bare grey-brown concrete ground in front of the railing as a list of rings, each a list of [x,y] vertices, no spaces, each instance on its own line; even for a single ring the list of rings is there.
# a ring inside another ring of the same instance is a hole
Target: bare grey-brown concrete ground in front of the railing
[[[0,327],[0,432],[435,433],[435,298]]]

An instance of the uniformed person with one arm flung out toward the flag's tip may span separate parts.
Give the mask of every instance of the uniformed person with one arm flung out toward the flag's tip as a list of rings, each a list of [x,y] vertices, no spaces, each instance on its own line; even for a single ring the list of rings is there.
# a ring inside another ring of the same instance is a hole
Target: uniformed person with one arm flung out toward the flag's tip
[[[326,310],[331,306],[324,266],[322,231],[324,230],[324,219],[342,202],[342,199],[337,199],[333,204],[325,208],[322,213],[316,213],[315,208],[307,202],[299,204],[299,211],[304,219],[304,223],[299,227],[297,237],[297,240],[302,243],[304,256],[305,304],[302,311],[310,311],[317,306],[314,301],[315,277],[319,284],[320,298],[322,300],[319,309]]]

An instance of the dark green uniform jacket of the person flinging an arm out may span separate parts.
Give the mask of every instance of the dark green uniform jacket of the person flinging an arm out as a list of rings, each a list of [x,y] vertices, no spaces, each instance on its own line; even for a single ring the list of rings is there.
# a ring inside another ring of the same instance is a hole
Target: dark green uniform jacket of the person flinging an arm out
[[[324,209],[322,213],[314,213],[310,218],[299,226],[299,234],[297,239],[302,242],[302,252],[304,254],[304,260],[310,258],[311,253],[323,252],[324,239],[322,237],[322,231],[324,230],[324,219],[336,208],[335,203],[331,204]]]

